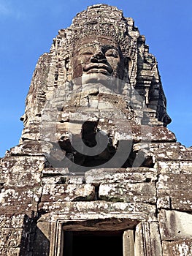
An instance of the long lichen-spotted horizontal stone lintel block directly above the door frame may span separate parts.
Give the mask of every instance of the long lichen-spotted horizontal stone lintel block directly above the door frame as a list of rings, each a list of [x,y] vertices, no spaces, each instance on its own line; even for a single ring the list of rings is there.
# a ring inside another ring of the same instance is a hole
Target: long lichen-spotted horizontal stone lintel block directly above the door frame
[[[104,219],[108,217],[130,218],[140,221],[156,221],[155,206],[147,203],[52,202],[39,204],[39,210],[62,214],[64,219]],[[50,220],[49,220],[50,221]]]

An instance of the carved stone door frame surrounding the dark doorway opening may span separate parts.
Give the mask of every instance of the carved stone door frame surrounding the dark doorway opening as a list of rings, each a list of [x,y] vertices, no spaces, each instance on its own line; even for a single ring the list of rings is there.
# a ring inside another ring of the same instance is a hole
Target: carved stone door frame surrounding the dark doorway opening
[[[56,219],[51,224],[50,256],[64,256],[64,231],[123,231],[123,256],[135,256],[135,219],[104,218],[104,219]]]

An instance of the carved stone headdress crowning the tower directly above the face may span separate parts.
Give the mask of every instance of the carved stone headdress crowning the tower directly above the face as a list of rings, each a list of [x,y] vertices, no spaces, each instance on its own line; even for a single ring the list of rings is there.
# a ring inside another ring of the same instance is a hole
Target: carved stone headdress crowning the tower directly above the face
[[[78,13],[68,29],[61,29],[55,43],[61,40],[63,50],[72,53],[81,40],[99,35],[114,39],[120,45],[123,56],[131,56],[136,44],[128,34],[130,21],[133,23],[132,19],[124,18],[123,12],[116,7],[96,4]]]

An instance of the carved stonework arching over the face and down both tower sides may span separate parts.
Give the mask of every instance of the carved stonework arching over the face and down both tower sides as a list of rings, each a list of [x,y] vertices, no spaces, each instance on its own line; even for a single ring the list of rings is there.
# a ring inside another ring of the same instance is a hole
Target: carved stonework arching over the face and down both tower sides
[[[25,128],[23,139],[36,139],[40,116],[45,102],[53,97],[55,88],[72,80],[72,55],[79,42],[86,37],[104,36],[118,42],[124,58],[127,58],[127,88],[134,88],[144,97],[149,120],[154,125],[169,124],[166,113],[166,97],[155,57],[149,53],[145,37],[139,34],[132,18],[125,18],[117,7],[96,4],[77,14],[72,25],[58,31],[50,53],[43,54],[31,80],[26,98],[26,111],[22,117]],[[30,132],[28,132],[30,131]],[[32,131],[32,132],[31,132]]]

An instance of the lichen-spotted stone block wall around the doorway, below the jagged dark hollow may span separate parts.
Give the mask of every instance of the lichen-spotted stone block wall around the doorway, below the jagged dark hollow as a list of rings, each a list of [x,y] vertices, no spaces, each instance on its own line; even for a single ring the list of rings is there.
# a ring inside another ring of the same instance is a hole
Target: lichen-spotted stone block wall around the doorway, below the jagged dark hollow
[[[76,231],[134,229],[135,255],[191,255],[192,150],[155,143],[151,154],[153,167],[85,176],[45,167],[44,157],[1,159],[1,255],[56,255],[50,249],[58,221]],[[91,227],[84,223],[90,220]]]

